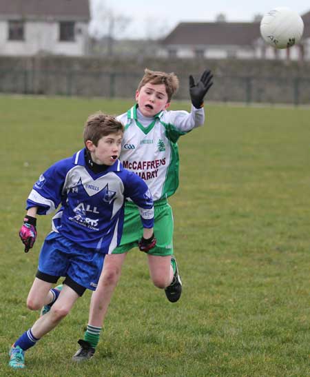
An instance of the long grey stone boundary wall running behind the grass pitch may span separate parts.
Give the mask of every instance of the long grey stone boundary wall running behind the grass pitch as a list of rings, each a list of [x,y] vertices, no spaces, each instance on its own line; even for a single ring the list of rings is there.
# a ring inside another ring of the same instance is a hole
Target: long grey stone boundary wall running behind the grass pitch
[[[189,74],[210,68],[210,101],[310,104],[310,62],[297,61],[0,57],[0,92],[134,99],[145,68],[176,72],[176,99],[189,98]]]

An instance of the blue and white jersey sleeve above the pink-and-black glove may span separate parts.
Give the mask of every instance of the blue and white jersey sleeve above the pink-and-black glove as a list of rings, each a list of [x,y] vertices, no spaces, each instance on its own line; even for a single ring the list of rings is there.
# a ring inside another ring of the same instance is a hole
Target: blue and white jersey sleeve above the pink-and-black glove
[[[37,214],[40,215],[54,212],[63,197],[62,190],[66,173],[65,160],[63,160],[41,174],[28,196],[26,210],[30,207],[38,207]]]

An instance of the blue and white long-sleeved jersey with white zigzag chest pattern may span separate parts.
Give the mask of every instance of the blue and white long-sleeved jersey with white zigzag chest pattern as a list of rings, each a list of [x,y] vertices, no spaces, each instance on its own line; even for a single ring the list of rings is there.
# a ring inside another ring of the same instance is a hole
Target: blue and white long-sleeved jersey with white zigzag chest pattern
[[[83,247],[110,254],[121,241],[125,198],[138,205],[143,227],[153,227],[153,199],[145,182],[118,160],[105,172],[92,172],[84,148],[41,174],[26,209],[38,207],[38,214],[50,214],[61,205],[52,218],[52,230]]]

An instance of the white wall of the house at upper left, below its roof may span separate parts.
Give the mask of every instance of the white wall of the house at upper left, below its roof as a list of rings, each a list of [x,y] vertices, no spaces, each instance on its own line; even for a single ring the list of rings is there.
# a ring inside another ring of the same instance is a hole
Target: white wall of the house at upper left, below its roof
[[[87,24],[76,23],[76,41],[59,41],[59,23],[54,21],[26,22],[25,40],[8,41],[8,23],[0,21],[0,55],[31,56],[42,52],[81,56],[85,54]]]

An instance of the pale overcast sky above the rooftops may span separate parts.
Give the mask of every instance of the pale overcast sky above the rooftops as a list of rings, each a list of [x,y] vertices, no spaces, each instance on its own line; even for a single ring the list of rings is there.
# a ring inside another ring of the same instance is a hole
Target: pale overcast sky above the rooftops
[[[264,14],[276,7],[288,7],[300,15],[310,11],[309,0],[90,0],[92,23],[90,30],[105,34],[105,9],[116,16],[128,17],[118,36],[130,39],[162,37],[180,21],[215,21],[220,13],[227,21],[252,21],[255,14]],[[95,10],[95,11],[94,11]]]

